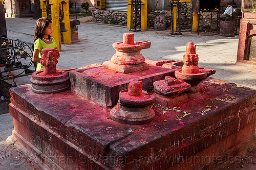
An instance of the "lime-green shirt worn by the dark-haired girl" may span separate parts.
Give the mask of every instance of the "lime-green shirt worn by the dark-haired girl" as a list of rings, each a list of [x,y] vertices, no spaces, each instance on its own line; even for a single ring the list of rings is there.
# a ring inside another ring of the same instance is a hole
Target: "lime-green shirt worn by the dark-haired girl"
[[[39,50],[39,58],[42,58],[42,49],[44,48],[56,48],[57,44],[55,42],[55,40],[51,37],[52,43],[51,44],[47,44],[45,43],[43,40],[41,40],[40,38],[38,38],[35,43],[34,43],[34,49]],[[38,70],[42,70],[43,66],[41,65],[41,63],[37,63],[36,66],[36,71]]]

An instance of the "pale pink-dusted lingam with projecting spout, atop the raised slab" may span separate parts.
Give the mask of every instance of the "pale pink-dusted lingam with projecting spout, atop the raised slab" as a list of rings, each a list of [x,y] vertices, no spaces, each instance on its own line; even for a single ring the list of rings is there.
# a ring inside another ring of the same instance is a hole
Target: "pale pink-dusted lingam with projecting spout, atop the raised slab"
[[[113,43],[112,46],[116,50],[116,54],[110,61],[105,61],[102,65],[118,72],[128,73],[138,70],[148,69],[145,58],[140,54],[140,51],[145,48],[150,48],[149,41],[134,41],[133,33],[124,33],[123,42]]]

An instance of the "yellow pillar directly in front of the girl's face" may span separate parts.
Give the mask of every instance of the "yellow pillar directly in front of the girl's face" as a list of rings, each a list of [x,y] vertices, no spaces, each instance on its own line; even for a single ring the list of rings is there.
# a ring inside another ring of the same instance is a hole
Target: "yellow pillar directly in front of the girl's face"
[[[60,27],[59,27],[59,1],[50,0],[49,4],[51,4],[52,10],[52,37],[54,38],[58,50],[61,50],[61,40],[60,40]]]

